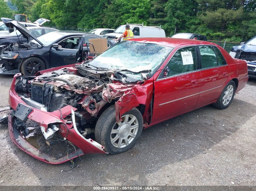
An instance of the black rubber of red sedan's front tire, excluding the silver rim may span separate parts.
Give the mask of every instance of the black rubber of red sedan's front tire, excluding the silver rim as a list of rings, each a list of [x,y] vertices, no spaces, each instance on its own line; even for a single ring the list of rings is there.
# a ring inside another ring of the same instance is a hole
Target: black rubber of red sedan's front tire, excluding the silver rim
[[[95,127],[95,139],[96,141],[103,145],[105,147],[105,151],[110,153],[110,154],[118,154],[124,151],[127,151],[130,149],[137,141],[139,136],[141,135],[142,128],[143,128],[143,118],[140,113],[140,111],[137,108],[133,108],[132,110],[124,113],[122,115],[133,115],[137,118],[138,120],[138,131],[135,136],[135,138],[131,141],[130,144],[126,145],[123,148],[117,148],[112,145],[110,137],[111,135],[111,130],[114,126],[118,126],[116,124],[116,119],[115,119],[115,105],[112,105],[108,107],[99,117],[96,127]],[[124,118],[122,118],[124,119]],[[130,119],[130,118],[129,118]],[[129,120],[128,119],[128,120]],[[131,123],[133,124],[133,123]],[[113,138],[113,137],[112,137]],[[123,140],[122,140],[123,141]],[[122,142],[121,141],[121,142]]]

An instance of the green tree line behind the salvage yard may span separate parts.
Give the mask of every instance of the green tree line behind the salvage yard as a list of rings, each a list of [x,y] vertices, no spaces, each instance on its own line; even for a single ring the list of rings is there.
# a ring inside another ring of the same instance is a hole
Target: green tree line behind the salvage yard
[[[166,35],[193,32],[241,41],[256,35],[256,0],[11,0],[30,21],[46,18],[56,27],[116,28],[121,24],[160,26]],[[2,8],[0,16],[9,15]],[[5,12],[4,12],[5,11]],[[6,12],[7,11],[7,12]]]

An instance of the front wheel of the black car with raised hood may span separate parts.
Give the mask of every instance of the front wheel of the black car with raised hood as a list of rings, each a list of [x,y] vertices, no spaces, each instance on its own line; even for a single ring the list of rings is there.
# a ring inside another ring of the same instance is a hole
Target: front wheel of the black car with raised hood
[[[20,71],[23,75],[34,75],[36,72],[44,69],[45,63],[37,57],[25,59],[20,66]]]

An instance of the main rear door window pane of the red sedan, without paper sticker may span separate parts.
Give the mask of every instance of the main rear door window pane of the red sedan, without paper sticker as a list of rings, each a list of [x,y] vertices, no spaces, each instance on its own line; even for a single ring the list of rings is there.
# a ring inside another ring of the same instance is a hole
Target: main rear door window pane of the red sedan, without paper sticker
[[[210,68],[218,65],[213,46],[199,46],[202,68]]]

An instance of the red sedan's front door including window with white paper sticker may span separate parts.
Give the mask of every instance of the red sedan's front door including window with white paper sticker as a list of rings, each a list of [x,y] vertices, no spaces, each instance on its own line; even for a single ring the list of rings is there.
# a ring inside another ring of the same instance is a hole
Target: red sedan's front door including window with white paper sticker
[[[197,70],[195,47],[179,49],[155,81],[155,96],[151,123],[156,123],[189,110],[198,102],[201,72]]]

